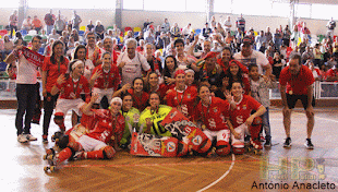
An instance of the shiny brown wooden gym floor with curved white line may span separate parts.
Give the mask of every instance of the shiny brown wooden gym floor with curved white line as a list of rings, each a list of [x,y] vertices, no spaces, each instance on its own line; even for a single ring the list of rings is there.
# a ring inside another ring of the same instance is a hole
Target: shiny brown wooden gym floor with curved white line
[[[70,116],[68,128],[69,119]],[[315,109],[313,151],[303,145],[303,110],[292,113],[292,147],[286,149],[281,109],[271,108],[274,146],[265,148],[262,156],[246,153],[210,158],[149,158],[120,152],[111,160],[70,161],[52,173],[44,171],[47,163],[43,155],[53,143],[41,143],[43,129],[37,124],[33,124],[32,133],[38,141],[19,143],[14,120],[15,110],[0,110],[0,183],[4,191],[338,191],[335,108]],[[57,130],[51,122],[50,135]]]

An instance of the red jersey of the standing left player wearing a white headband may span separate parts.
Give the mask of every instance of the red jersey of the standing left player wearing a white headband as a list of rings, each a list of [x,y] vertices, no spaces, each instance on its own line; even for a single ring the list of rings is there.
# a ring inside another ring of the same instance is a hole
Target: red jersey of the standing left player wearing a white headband
[[[81,75],[77,81],[74,81],[72,77],[65,80],[63,84],[61,84],[61,91],[59,98],[63,99],[76,99],[81,98],[80,94],[84,93],[89,96],[89,83],[86,77]]]

